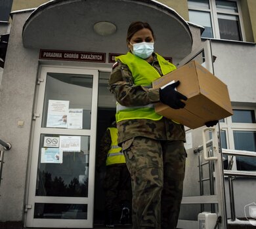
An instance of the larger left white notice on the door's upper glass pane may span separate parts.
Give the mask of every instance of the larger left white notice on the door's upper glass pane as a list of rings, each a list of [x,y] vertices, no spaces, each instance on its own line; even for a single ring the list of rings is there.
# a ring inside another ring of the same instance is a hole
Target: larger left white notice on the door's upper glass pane
[[[49,100],[46,127],[67,128],[70,101]]]

